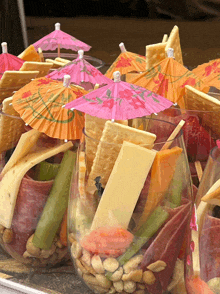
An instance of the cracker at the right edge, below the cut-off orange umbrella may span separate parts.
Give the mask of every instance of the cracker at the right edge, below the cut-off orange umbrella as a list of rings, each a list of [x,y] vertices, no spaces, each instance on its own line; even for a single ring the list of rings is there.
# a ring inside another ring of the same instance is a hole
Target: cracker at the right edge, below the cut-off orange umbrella
[[[191,86],[185,86],[186,109],[199,110],[198,116],[218,137],[220,136],[220,101]],[[206,113],[204,114],[204,111]]]

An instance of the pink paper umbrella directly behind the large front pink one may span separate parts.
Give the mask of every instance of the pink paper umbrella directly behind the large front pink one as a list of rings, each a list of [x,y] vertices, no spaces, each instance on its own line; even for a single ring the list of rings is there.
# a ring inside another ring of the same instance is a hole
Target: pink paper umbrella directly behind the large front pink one
[[[47,78],[53,80],[63,80],[63,77],[68,74],[71,76],[70,82],[75,85],[82,86],[85,90],[94,89],[95,84],[100,87],[105,86],[113,81],[104,76],[97,68],[91,65],[83,58],[83,50],[78,51],[78,58],[53,71]]]

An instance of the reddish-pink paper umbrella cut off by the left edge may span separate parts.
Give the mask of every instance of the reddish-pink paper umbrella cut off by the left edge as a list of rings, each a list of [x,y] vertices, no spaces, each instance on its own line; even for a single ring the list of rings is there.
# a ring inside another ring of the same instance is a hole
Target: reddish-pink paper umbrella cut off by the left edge
[[[2,54],[0,54],[0,79],[6,70],[19,70],[24,60],[8,53],[7,43],[2,44]]]

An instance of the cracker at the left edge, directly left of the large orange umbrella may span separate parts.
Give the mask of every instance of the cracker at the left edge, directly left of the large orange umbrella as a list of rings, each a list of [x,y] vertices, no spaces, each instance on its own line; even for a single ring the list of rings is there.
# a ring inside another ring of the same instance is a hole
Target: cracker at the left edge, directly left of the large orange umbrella
[[[24,121],[12,106],[12,97],[5,98],[0,114],[0,153],[16,146],[22,133],[24,133]]]

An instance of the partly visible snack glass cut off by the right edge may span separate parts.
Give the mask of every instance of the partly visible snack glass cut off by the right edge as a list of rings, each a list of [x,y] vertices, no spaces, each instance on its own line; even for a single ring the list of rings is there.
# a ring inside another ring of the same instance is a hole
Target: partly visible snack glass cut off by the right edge
[[[219,293],[219,178],[220,150],[216,146],[210,152],[196,197],[198,231],[193,231],[192,264],[186,271],[190,293],[195,286],[206,289],[205,293]]]

